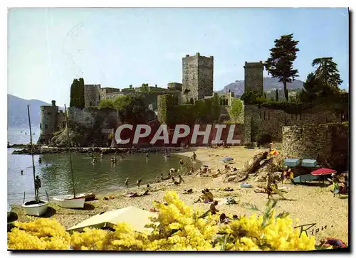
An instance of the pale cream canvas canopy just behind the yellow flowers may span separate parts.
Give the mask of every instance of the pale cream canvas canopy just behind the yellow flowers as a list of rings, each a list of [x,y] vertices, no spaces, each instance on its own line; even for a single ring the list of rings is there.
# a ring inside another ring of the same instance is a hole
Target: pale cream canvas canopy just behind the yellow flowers
[[[152,232],[151,228],[146,228],[145,225],[152,223],[150,217],[157,217],[157,213],[151,213],[147,210],[142,210],[137,207],[127,207],[119,210],[110,210],[106,213],[98,214],[83,220],[74,227],[70,227],[68,231],[81,231],[84,227],[114,227],[119,222],[127,222],[133,230],[138,232]]]

